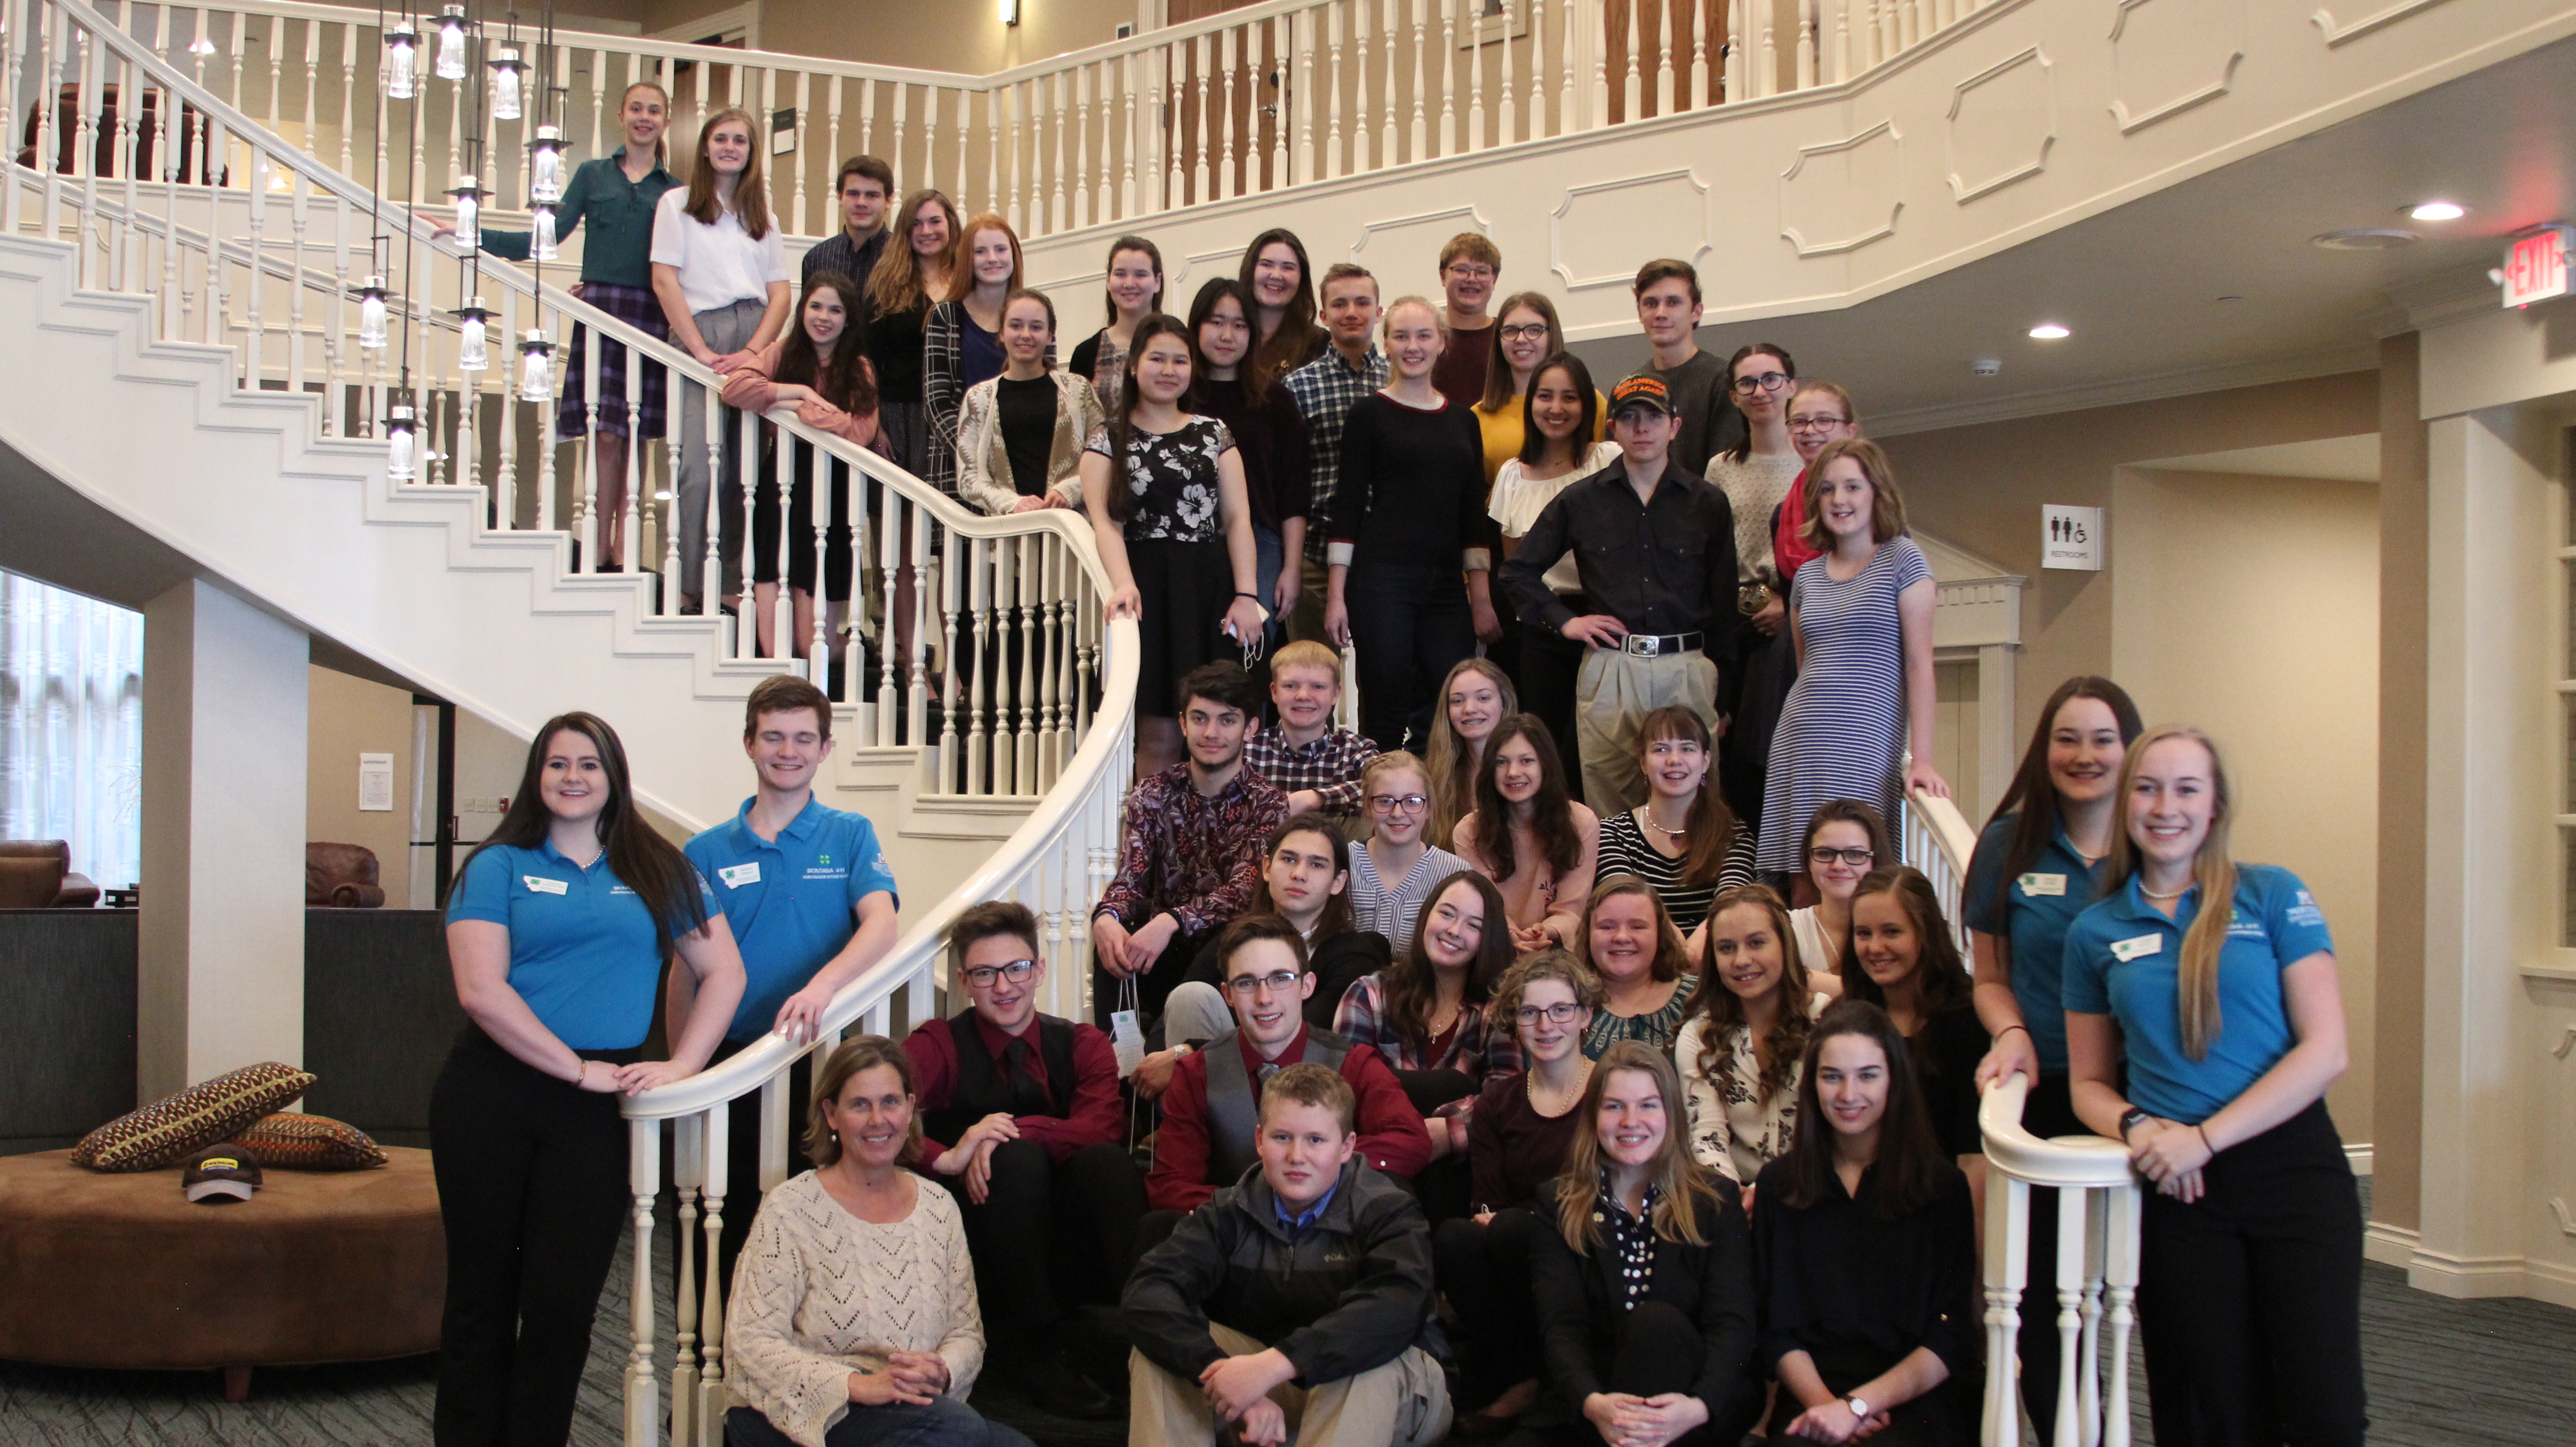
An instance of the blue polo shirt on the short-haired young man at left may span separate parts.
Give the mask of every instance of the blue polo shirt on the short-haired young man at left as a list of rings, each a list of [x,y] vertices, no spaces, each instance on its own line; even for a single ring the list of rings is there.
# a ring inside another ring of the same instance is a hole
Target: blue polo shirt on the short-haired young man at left
[[[858,901],[894,893],[894,870],[866,814],[806,798],[778,842],[752,834],[752,801],[729,824],[688,842],[688,860],[716,883],[716,904],[742,948],[742,1009],[726,1040],[757,1040],[778,1007],[858,935]]]

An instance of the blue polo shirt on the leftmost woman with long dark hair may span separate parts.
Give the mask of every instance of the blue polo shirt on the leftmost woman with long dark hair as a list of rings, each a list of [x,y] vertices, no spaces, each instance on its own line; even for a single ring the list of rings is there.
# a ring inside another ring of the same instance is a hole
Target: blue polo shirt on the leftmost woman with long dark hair
[[[531,850],[484,845],[448,896],[448,924],[459,919],[510,929],[510,989],[556,1040],[574,1050],[644,1043],[662,984],[662,950],[652,911],[608,873],[605,850],[582,868],[554,839]],[[685,929],[685,922],[672,922],[675,935]]]

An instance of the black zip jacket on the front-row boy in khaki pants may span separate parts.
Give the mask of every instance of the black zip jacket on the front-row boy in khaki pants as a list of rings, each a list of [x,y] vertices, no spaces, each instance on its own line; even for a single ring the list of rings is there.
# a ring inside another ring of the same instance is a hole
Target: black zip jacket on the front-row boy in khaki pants
[[[1406,1347],[1437,1352],[1432,1228],[1422,1205],[1358,1156],[1306,1231],[1278,1218],[1260,1166],[1180,1220],[1128,1277],[1128,1336],[1149,1362],[1198,1380],[1226,1352],[1224,1323],[1296,1365],[1306,1388],[1383,1367]]]

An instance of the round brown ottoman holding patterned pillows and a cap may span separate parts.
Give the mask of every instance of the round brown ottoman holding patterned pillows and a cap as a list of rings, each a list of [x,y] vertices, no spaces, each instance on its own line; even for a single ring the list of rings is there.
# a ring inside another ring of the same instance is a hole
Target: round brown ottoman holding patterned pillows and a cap
[[[103,1177],[70,1151],[0,1156],[0,1357],[57,1367],[371,1362],[438,1349],[448,1244],[430,1153],[376,1172],[265,1172],[191,1205],[178,1166]],[[41,1303],[41,1305],[39,1305]]]

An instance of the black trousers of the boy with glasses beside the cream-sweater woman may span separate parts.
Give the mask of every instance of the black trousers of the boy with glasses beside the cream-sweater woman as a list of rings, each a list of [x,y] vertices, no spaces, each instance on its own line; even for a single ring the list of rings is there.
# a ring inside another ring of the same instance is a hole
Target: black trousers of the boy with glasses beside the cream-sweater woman
[[[1048,1347],[1064,1311],[1115,1303],[1121,1264],[1144,1220],[1144,1174],[1113,1143],[1056,1161],[1036,1141],[1005,1141],[992,1153],[984,1205],[951,1187],[966,1218],[976,1295],[992,1334],[992,1362]]]

